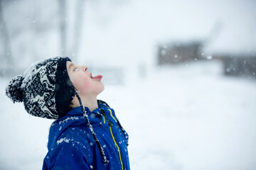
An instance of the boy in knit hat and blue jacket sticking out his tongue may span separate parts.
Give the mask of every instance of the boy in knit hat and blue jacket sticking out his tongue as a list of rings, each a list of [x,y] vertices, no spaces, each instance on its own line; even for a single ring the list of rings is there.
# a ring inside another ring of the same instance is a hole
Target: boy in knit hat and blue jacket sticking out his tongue
[[[68,57],[53,57],[14,77],[6,95],[26,111],[57,119],[50,127],[46,169],[129,169],[128,135],[114,110],[97,95],[102,76]]]

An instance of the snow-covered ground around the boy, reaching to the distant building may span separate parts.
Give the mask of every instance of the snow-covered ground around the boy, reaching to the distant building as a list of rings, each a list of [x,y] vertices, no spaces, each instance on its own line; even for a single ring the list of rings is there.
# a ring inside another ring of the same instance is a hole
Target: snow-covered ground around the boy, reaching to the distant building
[[[182,64],[105,86],[99,98],[129,132],[131,169],[256,169],[256,81],[223,77],[221,67]],[[7,81],[0,79],[0,169],[41,169],[52,120],[11,103]]]

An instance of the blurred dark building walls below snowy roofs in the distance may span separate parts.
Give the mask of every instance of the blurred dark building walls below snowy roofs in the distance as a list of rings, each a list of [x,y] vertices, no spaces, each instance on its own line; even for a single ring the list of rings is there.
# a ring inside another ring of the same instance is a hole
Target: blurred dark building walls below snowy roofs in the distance
[[[203,42],[172,42],[169,44],[159,45],[157,53],[157,62],[159,65],[179,64],[182,62],[191,62],[196,60],[204,60]],[[232,54],[232,53],[230,53]],[[227,76],[243,76],[248,78],[256,78],[256,55],[241,54],[226,55],[225,53],[214,55],[213,60],[223,62],[223,74]]]

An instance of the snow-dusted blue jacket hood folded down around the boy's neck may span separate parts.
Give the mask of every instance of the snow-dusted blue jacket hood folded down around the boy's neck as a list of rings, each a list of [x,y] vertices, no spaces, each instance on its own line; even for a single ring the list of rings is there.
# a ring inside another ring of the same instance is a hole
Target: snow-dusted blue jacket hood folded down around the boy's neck
[[[100,109],[105,111],[107,109],[112,110],[112,108],[108,108],[102,103],[98,103],[98,106],[99,108],[96,108],[94,111],[90,111],[89,108],[85,107],[85,111],[87,112],[92,128],[100,125],[107,126],[107,124],[102,123],[103,118],[100,114]],[[58,138],[63,132],[65,132],[65,130],[73,126],[84,124],[86,125],[86,120],[85,116],[82,113],[82,108],[79,106],[70,109],[70,111],[68,111],[68,113],[65,116],[59,118],[58,120],[55,120],[50,126],[50,132],[48,137],[48,150],[50,150],[58,142]]]

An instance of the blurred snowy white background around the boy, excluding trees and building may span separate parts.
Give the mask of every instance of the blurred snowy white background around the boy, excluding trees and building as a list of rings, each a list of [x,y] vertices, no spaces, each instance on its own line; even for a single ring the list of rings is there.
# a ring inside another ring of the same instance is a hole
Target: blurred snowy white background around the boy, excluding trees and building
[[[1,67],[26,69],[61,55],[56,6],[50,0],[5,6],[16,62]],[[129,132],[131,169],[256,169],[256,80],[225,77],[218,60],[156,65],[157,45],[175,40],[206,40],[206,56],[255,53],[255,8],[253,0],[68,1],[70,57],[89,68],[122,71],[117,81],[123,83],[110,84],[107,72],[95,69],[105,83],[99,98]],[[78,9],[84,10],[80,50],[72,55]],[[4,95],[10,79],[0,79],[0,169],[41,169],[53,120],[11,103]]]

